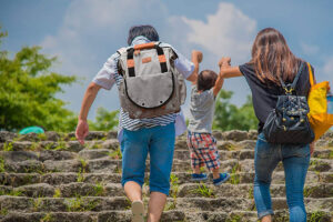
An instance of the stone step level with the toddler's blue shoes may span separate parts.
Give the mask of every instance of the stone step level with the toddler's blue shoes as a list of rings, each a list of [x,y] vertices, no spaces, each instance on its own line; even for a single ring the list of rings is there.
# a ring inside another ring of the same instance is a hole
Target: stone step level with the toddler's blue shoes
[[[145,174],[149,178],[149,173]],[[190,172],[173,172],[172,178],[176,184],[191,183]],[[243,184],[253,183],[254,172],[236,172],[231,174],[231,179],[226,183]],[[36,183],[48,183],[50,185],[61,185],[73,182],[87,183],[120,183],[120,173],[0,173],[0,184],[9,186],[21,186]],[[272,175],[272,184],[284,184],[284,172],[274,171]],[[206,184],[212,184],[212,175],[209,174]],[[306,183],[333,183],[332,172],[314,172],[309,171],[306,174]]]

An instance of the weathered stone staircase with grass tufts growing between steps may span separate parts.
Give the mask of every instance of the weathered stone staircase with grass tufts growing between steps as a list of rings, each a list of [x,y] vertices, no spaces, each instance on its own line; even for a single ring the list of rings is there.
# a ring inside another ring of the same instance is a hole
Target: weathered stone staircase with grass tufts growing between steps
[[[175,142],[171,194],[161,221],[258,221],[253,201],[254,131],[214,132],[221,171],[228,183],[215,188],[190,182],[185,137]],[[120,184],[117,133],[90,132],[84,145],[73,133],[17,135],[0,132],[0,221],[131,221],[130,202]],[[317,141],[304,190],[311,222],[333,221],[333,133]],[[149,172],[149,165],[147,168]],[[149,173],[147,173],[149,176]],[[147,180],[144,202],[149,200]],[[280,164],[271,186],[274,221],[287,221],[284,172]]]

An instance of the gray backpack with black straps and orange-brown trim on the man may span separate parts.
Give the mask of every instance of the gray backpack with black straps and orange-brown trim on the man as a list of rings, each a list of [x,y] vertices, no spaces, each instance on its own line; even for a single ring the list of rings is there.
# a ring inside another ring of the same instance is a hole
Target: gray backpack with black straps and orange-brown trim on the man
[[[154,118],[180,111],[185,102],[184,78],[174,68],[178,56],[160,42],[118,50],[119,87],[122,109],[131,119]]]

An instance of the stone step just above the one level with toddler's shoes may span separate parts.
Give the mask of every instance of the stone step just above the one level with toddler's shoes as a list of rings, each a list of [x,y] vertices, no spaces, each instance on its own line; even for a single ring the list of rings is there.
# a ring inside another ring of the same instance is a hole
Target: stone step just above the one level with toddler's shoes
[[[94,159],[94,160],[47,160],[44,162],[38,160],[26,160],[21,162],[3,161],[4,172],[17,173],[50,173],[50,172],[121,172],[121,160],[113,160],[110,158]],[[327,159],[311,159],[310,171],[315,172],[332,172],[333,160]],[[149,164],[147,164],[147,172],[149,172]],[[190,160],[174,160],[173,172],[191,172]],[[226,172],[253,172],[254,161],[229,159],[221,161],[221,171]],[[280,162],[276,171],[283,171],[283,164]]]

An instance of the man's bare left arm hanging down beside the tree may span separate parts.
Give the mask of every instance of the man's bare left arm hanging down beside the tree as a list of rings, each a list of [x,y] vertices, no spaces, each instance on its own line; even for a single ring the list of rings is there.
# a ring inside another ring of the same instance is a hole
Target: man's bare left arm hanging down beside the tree
[[[100,89],[101,89],[100,85],[95,84],[94,82],[91,82],[85,90],[81,110],[80,110],[80,114],[79,114],[79,122],[78,122],[77,131],[75,131],[77,139],[81,144],[84,144],[84,138],[89,133],[89,125],[87,122],[87,117],[88,117],[90,107],[93,103]]]

